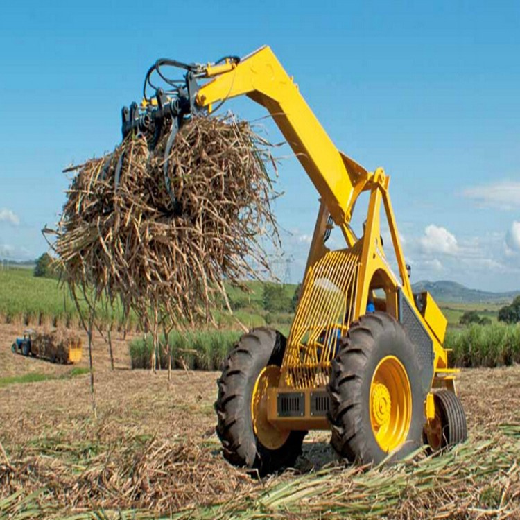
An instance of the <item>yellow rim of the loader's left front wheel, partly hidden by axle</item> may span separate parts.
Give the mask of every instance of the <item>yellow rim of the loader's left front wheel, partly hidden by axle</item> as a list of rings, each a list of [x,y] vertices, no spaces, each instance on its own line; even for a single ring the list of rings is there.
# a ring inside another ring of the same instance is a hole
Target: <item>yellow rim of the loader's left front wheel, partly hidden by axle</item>
[[[269,449],[278,449],[284,445],[291,431],[279,430],[267,418],[267,390],[276,388],[280,380],[280,367],[268,365],[254,383],[251,399],[251,417],[254,435]]]

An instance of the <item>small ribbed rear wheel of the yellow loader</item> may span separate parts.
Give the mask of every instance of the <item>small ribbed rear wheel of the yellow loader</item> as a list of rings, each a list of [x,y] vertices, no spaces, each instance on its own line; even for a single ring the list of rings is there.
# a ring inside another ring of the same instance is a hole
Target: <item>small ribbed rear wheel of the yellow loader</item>
[[[424,428],[424,444],[430,453],[442,453],[467,440],[466,414],[460,399],[450,390],[437,390],[435,419]]]

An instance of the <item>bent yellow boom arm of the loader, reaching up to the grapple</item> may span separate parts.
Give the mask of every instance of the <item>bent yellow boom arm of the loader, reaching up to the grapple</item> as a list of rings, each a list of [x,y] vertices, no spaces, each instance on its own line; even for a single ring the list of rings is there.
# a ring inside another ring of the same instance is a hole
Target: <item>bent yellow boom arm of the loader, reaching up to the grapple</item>
[[[200,107],[246,95],[270,112],[296,157],[324,198],[337,225],[349,222],[356,183],[368,173],[340,153],[268,46],[238,64],[207,67],[214,79],[196,97]]]

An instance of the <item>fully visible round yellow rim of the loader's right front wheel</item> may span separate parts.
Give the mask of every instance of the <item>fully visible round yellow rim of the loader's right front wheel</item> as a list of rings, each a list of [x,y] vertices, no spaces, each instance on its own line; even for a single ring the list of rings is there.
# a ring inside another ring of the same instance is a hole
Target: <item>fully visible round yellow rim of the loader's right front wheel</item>
[[[377,365],[370,383],[370,422],[379,447],[389,453],[408,437],[412,420],[412,392],[406,370],[395,356]]]

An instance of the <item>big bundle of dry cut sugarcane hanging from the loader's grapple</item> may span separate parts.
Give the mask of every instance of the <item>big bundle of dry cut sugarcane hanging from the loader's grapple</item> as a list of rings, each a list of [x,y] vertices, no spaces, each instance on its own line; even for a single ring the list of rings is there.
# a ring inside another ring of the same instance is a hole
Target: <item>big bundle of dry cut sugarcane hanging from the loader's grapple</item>
[[[268,271],[261,237],[277,243],[275,192],[268,143],[244,121],[193,118],[171,150],[167,139],[150,152],[131,136],[79,166],[53,248],[73,291],[181,324],[227,302],[224,281]]]

